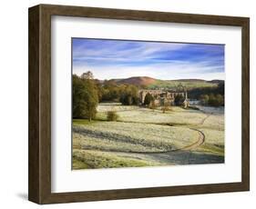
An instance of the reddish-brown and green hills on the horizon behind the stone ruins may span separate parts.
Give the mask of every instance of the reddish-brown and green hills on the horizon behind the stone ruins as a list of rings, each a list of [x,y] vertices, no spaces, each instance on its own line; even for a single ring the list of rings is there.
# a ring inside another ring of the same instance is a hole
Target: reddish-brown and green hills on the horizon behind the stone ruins
[[[200,87],[214,87],[223,83],[223,80],[203,80],[203,79],[177,79],[177,80],[159,80],[148,76],[136,76],[120,79],[111,79],[118,85],[138,85],[149,89],[159,88],[177,88],[180,85],[186,87],[188,90]]]

